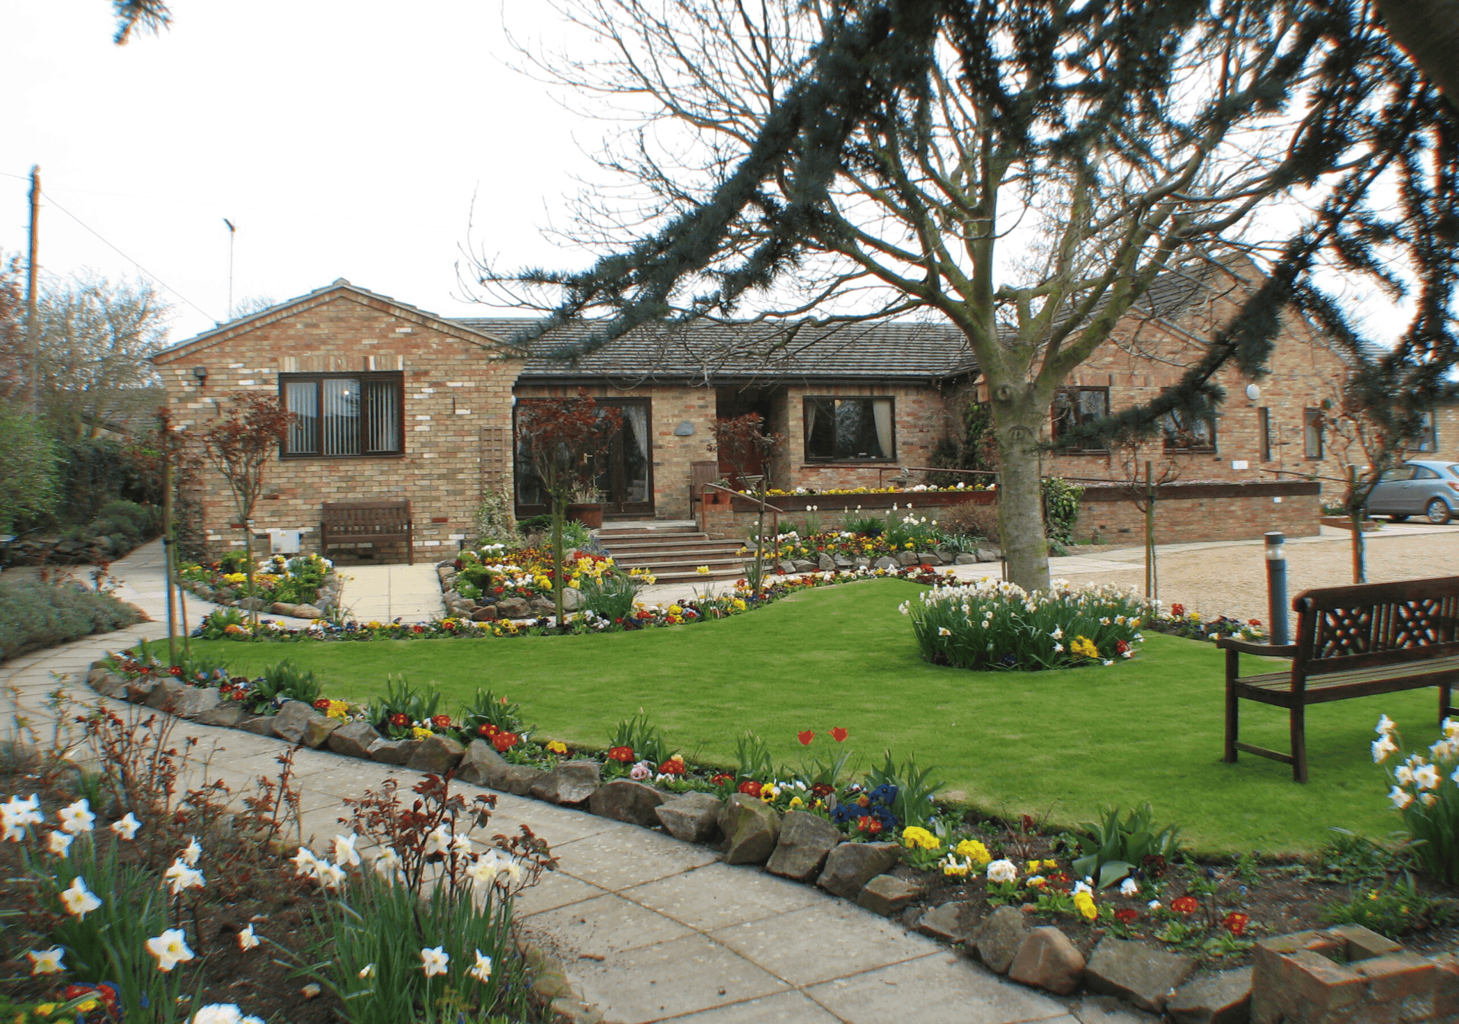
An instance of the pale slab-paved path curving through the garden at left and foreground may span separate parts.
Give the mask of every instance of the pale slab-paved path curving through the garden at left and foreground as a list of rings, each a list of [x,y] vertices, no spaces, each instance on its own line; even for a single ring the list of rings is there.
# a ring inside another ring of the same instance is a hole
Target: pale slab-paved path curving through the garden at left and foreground
[[[0,665],[15,712],[42,734],[58,686],[95,703],[83,681],[92,661],[139,637],[166,635],[155,553],[124,559],[114,572],[156,621]],[[235,792],[273,775],[285,748],[277,740],[191,722],[179,722],[175,737],[197,737],[201,751],[216,747],[214,776]],[[391,775],[387,766],[311,750],[301,750],[295,766],[303,836],[315,837],[317,849],[341,831],[343,799]],[[502,794],[492,831],[512,831],[518,823],[546,837],[562,859],[557,874],[522,896],[521,920],[559,950],[570,980],[608,1021],[1129,1024],[1142,1017],[1104,1001],[1045,998],[820,890],[719,864],[708,847]]]

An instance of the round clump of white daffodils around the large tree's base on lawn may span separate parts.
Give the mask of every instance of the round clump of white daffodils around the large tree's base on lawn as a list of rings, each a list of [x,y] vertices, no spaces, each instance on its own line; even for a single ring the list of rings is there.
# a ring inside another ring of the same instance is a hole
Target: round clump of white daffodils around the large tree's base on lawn
[[[1007,581],[924,591],[902,605],[922,658],[979,671],[1072,668],[1134,655],[1150,608],[1129,591],[1055,581],[1027,594]]]

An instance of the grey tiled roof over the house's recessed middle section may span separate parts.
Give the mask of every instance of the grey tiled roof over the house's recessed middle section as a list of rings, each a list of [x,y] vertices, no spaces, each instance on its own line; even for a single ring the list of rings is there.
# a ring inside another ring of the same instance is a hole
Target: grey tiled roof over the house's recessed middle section
[[[511,341],[528,319],[457,319]],[[521,379],[944,379],[976,369],[961,333],[950,325],[864,322],[830,327],[697,321],[668,330],[641,327],[576,357],[553,353],[581,341],[592,324],[568,324],[534,341]]]

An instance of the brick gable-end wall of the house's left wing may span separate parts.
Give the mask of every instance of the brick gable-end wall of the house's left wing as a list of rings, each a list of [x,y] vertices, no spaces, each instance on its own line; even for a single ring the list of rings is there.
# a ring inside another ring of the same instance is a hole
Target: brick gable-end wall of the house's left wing
[[[271,461],[254,512],[261,538],[268,528],[305,530],[303,550],[317,550],[324,502],[406,497],[416,553],[432,557],[470,535],[483,486],[511,480],[505,439],[518,360],[471,331],[368,292],[322,289],[155,362],[175,423],[190,432],[206,429],[233,391],[277,394],[280,372],[403,372],[404,455]],[[197,366],[207,369],[203,387]],[[242,532],[229,528],[236,513],[226,481],[212,468],[203,519],[213,557],[242,546]],[[384,554],[403,560],[404,550]]]

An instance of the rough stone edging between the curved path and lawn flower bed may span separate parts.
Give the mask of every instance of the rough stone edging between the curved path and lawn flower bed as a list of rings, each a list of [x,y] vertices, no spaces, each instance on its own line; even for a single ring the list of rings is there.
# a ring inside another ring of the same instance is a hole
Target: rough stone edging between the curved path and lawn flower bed
[[[782,815],[746,794],[721,801],[705,792],[665,794],[630,779],[604,783],[598,761],[570,760],[552,769],[512,764],[480,740],[465,747],[442,735],[385,740],[368,722],[341,724],[299,700],[286,702],[276,715],[248,715],[238,705],[222,703],[216,689],[193,687],[174,678],[134,683],[108,671],[104,661],[92,662],[86,683],[104,696],[142,703],[200,725],[239,728],[311,748],[327,747],[346,757],[400,766],[407,772],[441,775],[454,769],[454,777],[470,785],[550,804],[585,805],[598,817],[645,829],[662,827],[683,842],[708,845],[718,840],[725,864],[765,865],[773,875],[817,885],[884,918],[900,915],[922,891],[915,881],[889,874],[897,864],[897,843],[843,842],[824,818],[805,811]],[[970,910],[967,903],[944,903],[924,912],[912,928],[961,945],[969,957],[976,955],[989,970],[1021,985],[1065,996],[1083,985],[1139,1009],[1167,1014],[1176,1024],[1242,1024],[1247,1020],[1335,1024],[1338,1017],[1309,1012],[1306,1004],[1288,1005],[1293,998],[1299,1002],[1316,999],[1329,989],[1344,992],[1339,1001],[1357,1001],[1380,1015],[1382,1008],[1390,1005],[1395,1014],[1399,1012],[1396,1006],[1402,1004],[1405,1023],[1459,1020],[1459,954],[1428,960],[1358,925],[1261,939],[1253,967],[1191,980],[1196,966],[1193,957],[1106,935],[1085,961],[1061,929],[1052,925],[1029,928],[1023,910],[996,907],[980,922],[969,920]],[[544,1005],[575,1024],[603,1020],[597,1009],[581,1002],[581,993],[572,990],[560,961],[525,942],[522,953],[537,974],[534,995]],[[1345,1011],[1341,1020],[1350,1020]]]

